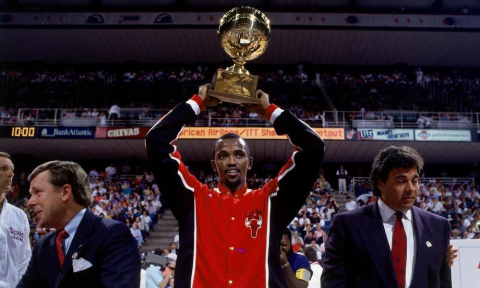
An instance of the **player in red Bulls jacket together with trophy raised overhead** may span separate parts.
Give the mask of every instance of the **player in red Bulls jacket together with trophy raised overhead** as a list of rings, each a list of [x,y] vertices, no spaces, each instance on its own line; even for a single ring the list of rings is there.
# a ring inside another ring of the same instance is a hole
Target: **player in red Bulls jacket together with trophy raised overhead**
[[[218,70],[214,88],[200,86],[198,94],[176,105],[145,139],[153,175],[179,223],[175,286],[285,287],[281,234],[309,194],[325,145],[307,124],[256,90],[256,76],[241,66],[266,48],[268,19],[242,6],[223,16],[218,31],[220,42],[229,43],[235,66]],[[217,188],[199,182],[181,161],[174,141],[183,126],[194,124],[201,110],[220,101],[244,104],[263,115],[294,147],[279,174],[261,188],[246,186],[253,159],[248,144],[236,134],[225,134],[213,145]]]

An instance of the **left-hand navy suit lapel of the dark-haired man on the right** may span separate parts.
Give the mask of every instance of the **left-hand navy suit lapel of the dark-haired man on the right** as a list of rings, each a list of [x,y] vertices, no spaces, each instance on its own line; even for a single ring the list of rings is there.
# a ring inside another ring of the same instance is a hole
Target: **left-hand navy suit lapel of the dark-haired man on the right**
[[[390,247],[381,220],[378,203],[369,205],[358,233],[386,287],[397,285],[391,260]]]

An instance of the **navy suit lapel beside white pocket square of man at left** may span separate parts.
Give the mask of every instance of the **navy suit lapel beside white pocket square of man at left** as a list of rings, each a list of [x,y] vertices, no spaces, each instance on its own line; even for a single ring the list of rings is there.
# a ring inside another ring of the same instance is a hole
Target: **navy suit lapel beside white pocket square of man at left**
[[[55,287],[58,287],[63,277],[72,269],[72,255],[77,253],[81,255],[81,251],[85,247],[86,242],[89,239],[89,235],[93,231],[93,213],[87,208],[85,214],[81,218],[78,227],[76,228],[75,235],[71,240],[70,246],[68,247],[68,252],[65,255],[63,260],[63,265],[61,267],[60,273],[56,279]],[[80,256],[76,257],[77,259]]]

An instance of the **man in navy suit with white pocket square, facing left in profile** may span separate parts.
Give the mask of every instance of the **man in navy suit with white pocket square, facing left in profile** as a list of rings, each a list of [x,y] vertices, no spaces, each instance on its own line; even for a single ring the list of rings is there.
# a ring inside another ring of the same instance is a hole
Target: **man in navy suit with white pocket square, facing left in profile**
[[[33,247],[17,287],[135,287],[136,241],[121,222],[93,215],[88,176],[75,162],[50,161],[30,174],[27,205],[40,227],[55,228]]]

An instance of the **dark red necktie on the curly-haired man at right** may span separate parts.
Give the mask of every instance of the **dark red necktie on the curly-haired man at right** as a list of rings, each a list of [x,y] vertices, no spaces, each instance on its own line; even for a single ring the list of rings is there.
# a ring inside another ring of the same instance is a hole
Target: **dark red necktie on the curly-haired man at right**
[[[391,243],[391,259],[395,271],[398,288],[405,288],[406,270],[406,234],[401,222],[402,212],[396,212],[395,227],[393,227],[393,238]]]

